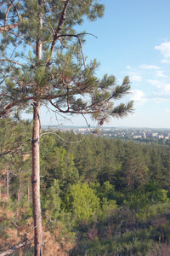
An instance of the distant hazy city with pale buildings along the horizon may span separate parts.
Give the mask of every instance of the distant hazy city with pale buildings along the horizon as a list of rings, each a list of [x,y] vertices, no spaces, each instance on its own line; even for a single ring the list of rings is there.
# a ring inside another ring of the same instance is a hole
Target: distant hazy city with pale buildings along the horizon
[[[116,127],[76,127],[76,126],[42,126],[42,129],[60,130],[60,131],[74,131],[75,134],[90,134],[99,133],[102,137],[115,137],[122,139],[151,139],[154,140],[168,140],[170,139],[170,129],[152,129],[152,128],[116,128]]]

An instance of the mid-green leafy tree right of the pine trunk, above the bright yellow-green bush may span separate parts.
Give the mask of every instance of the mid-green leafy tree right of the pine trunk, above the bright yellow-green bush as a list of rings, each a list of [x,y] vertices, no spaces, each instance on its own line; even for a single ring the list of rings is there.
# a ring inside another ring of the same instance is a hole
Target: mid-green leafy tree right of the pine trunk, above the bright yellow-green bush
[[[46,147],[44,147],[44,143],[46,143]],[[73,154],[67,154],[65,148],[56,147],[53,135],[43,137],[41,166],[46,187],[57,179],[59,188],[66,191],[71,184],[80,179]]]

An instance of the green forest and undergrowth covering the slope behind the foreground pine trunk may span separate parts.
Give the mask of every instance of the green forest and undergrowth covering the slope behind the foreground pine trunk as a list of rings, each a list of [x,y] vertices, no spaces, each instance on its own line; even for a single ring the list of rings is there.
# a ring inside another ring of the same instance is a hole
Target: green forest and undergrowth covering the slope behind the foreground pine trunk
[[[31,145],[27,141],[32,124],[0,121],[1,134],[8,130],[20,142],[8,154],[3,153],[14,141],[7,134],[7,143],[0,142],[0,251],[25,242],[22,251],[30,255],[34,235]],[[55,133],[58,136],[42,136],[40,145],[45,255],[52,248],[54,255],[168,253],[169,146],[124,143],[70,131]]]

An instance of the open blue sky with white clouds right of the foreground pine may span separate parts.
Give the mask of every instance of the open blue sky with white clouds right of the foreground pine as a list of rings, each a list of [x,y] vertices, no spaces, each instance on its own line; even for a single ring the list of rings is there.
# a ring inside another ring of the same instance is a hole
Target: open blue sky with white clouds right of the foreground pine
[[[97,74],[124,76],[131,80],[132,94],[122,101],[134,101],[135,111],[126,119],[111,119],[106,126],[170,128],[170,1],[103,0],[105,16],[85,21],[80,31],[93,33],[83,46],[88,60],[100,62]],[[60,122],[60,119],[58,120]],[[42,110],[42,125],[58,121]],[[91,125],[95,125],[88,119]],[[62,122],[86,125],[81,117]]]

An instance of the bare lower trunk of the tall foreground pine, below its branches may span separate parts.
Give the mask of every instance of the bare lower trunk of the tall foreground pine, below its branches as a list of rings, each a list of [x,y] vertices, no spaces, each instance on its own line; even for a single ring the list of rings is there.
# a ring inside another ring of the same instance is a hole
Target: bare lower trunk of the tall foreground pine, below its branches
[[[40,102],[34,103],[34,122],[32,130],[32,204],[34,216],[34,255],[42,256],[42,212],[40,201]]]

